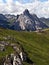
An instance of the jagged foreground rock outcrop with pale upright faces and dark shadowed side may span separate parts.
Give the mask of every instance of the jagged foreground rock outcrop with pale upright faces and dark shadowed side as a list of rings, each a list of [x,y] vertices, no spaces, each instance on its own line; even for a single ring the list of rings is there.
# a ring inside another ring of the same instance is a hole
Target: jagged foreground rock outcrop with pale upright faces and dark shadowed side
[[[31,62],[30,59],[28,59],[27,54],[25,53],[22,45],[19,43],[11,43],[10,46],[14,49],[14,53],[6,56],[6,60],[4,62],[4,65],[23,65],[23,62]]]

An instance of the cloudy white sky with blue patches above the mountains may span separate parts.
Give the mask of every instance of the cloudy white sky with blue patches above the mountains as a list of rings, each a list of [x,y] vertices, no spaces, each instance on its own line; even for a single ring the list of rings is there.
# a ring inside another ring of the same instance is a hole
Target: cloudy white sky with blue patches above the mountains
[[[25,9],[38,17],[49,18],[49,0],[0,0],[0,14],[21,14]]]

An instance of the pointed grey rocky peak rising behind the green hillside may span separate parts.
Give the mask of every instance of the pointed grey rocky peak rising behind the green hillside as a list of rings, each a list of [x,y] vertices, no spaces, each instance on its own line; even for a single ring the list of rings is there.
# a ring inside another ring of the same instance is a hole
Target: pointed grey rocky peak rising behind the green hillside
[[[26,9],[23,14],[20,14],[12,27],[15,30],[35,31],[48,28],[35,14],[30,14]]]

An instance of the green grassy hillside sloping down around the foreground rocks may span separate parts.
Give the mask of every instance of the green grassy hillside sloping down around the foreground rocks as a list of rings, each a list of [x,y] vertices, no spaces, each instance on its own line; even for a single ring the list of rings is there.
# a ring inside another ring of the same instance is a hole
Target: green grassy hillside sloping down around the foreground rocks
[[[13,40],[5,39],[7,36],[11,36]],[[17,41],[23,46],[28,57],[35,65],[49,65],[49,30],[43,33],[36,33],[27,31],[18,32],[0,28],[0,41],[8,41],[10,43],[16,43],[15,41]],[[7,47],[6,51],[0,52],[0,59],[12,52],[14,50],[11,47]],[[24,62],[24,65],[30,64]]]

